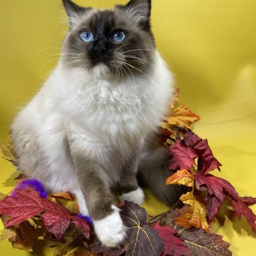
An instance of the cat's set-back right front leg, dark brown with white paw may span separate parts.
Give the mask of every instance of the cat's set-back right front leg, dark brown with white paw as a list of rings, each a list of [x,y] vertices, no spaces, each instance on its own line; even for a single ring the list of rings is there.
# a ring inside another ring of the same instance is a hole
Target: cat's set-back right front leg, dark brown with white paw
[[[127,159],[121,170],[120,181],[118,184],[119,199],[121,202],[132,201],[141,205],[144,200],[143,190],[138,186],[137,171],[138,171],[139,156],[136,151]]]

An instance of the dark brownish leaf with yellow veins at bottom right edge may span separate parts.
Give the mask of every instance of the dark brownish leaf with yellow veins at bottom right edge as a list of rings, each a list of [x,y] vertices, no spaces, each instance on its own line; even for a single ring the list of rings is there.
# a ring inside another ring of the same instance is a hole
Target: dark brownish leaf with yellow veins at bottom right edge
[[[232,252],[228,249],[230,244],[222,240],[222,236],[214,233],[205,233],[203,229],[184,229],[173,222],[172,217],[167,214],[165,223],[176,231],[176,236],[184,240],[184,245],[189,248],[191,256],[230,256]]]

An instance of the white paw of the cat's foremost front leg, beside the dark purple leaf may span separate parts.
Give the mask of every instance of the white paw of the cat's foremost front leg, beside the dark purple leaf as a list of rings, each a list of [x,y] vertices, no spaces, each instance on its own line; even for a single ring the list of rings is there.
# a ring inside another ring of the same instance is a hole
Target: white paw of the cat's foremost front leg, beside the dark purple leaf
[[[104,219],[94,221],[94,230],[103,245],[108,247],[116,247],[124,240],[126,227],[121,220],[119,210],[116,206],[113,214]]]

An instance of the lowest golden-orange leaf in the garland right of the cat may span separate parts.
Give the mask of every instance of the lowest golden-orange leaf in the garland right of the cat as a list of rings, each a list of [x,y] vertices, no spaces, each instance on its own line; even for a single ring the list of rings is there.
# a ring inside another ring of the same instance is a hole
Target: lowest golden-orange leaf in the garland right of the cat
[[[191,207],[188,208],[186,214],[175,219],[175,222],[185,228],[202,227],[208,232],[209,226],[206,220],[206,206],[198,202],[192,192],[181,195],[180,200]]]

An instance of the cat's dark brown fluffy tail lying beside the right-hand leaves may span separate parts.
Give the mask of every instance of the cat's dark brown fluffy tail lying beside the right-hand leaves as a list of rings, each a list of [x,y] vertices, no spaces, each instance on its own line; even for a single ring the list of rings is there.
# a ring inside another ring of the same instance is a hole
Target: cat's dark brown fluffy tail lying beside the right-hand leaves
[[[169,160],[166,147],[150,148],[140,157],[138,181],[141,187],[151,190],[158,200],[168,206],[173,206],[178,202],[179,197],[187,192],[187,187],[165,185],[166,178],[173,174],[167,169]]]

